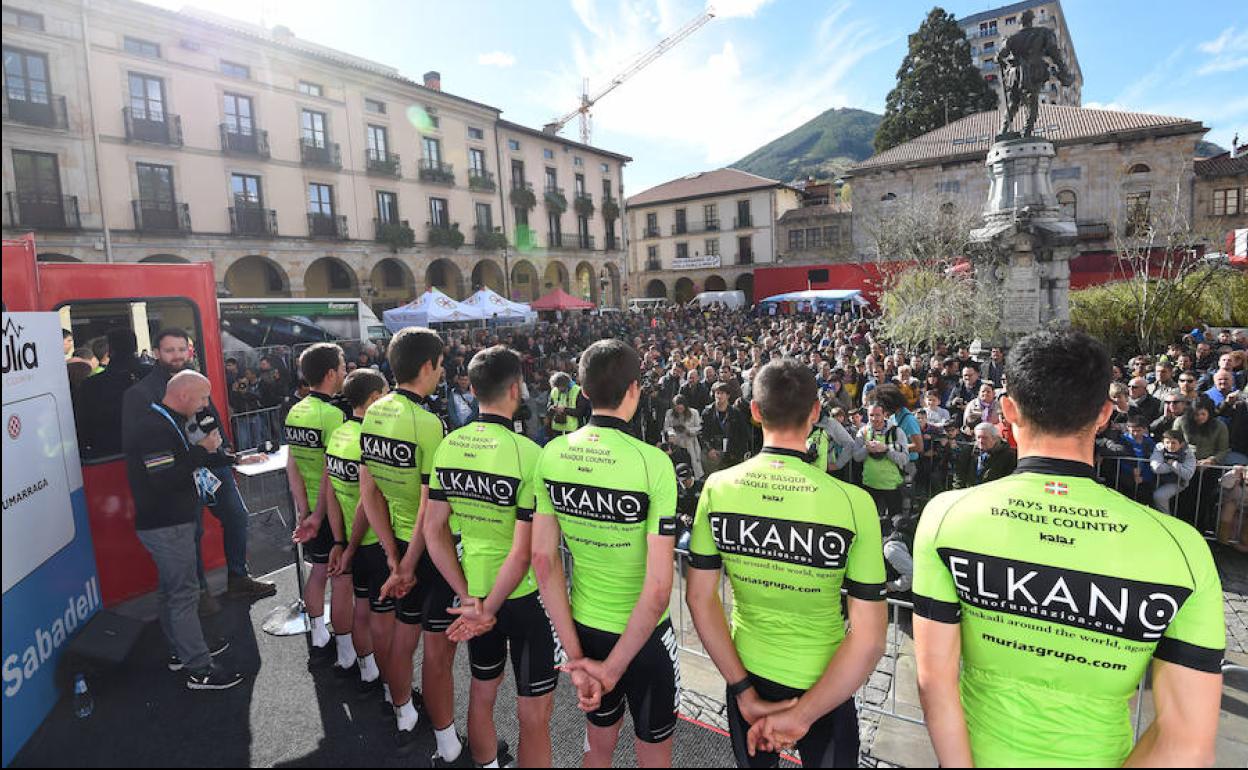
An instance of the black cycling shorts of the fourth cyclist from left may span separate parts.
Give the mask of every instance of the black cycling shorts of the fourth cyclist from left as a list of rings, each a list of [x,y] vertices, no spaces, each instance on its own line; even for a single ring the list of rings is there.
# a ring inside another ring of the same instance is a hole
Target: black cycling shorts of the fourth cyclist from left
[[[494,628],[468,641],[473,679],[492,681],[502,676],[508,651],[517,695],[538,698],[554,693],[559,684],[554,666],[563,649],[538,592],[504,602]]]

